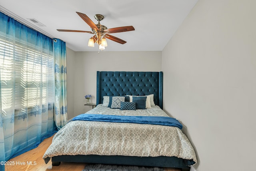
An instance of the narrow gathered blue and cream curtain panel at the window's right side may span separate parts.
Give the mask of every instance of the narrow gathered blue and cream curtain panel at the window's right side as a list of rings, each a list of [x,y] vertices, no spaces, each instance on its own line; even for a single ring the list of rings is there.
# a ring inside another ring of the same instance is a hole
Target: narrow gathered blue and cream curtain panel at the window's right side
[[[68,123],[66,43],[53,39],[55,61],[54,121],[58,129]]]

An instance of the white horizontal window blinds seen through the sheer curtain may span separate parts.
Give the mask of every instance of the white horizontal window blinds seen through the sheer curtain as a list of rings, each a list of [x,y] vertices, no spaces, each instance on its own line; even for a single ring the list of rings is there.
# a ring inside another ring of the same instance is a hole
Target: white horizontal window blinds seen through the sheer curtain
[[[0,36],[2,113],[54,103],[52,50]]]

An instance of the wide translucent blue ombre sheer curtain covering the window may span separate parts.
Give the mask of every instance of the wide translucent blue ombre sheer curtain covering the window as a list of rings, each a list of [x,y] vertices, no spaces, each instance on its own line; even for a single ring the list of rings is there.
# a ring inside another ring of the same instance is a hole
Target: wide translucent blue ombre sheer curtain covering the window
[[[0,12],[0,161],[57,131],[54,89],[52,39]]]

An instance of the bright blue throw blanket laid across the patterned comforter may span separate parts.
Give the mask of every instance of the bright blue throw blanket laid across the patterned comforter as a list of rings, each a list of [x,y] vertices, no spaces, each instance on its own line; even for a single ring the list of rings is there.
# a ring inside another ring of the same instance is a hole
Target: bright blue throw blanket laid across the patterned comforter
[[[164,116],[121,116],[121,115],[81,114],[74,117],[71,121],[77,121],[77,120],[164,125],[164,126],[178,127],[182,129],[182,124],[177,119],[174,119],[172,117],[164,117]]]

